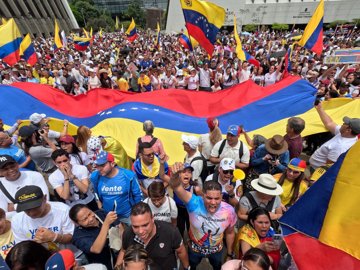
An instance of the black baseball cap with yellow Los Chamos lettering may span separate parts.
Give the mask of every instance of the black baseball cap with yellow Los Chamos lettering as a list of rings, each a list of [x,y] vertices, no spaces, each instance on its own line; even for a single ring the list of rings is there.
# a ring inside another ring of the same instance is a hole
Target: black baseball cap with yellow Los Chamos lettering
[[[16,212],[20,213],[40,206],[43,198],[44,193],[39,186],[24,186],[15,193]]]

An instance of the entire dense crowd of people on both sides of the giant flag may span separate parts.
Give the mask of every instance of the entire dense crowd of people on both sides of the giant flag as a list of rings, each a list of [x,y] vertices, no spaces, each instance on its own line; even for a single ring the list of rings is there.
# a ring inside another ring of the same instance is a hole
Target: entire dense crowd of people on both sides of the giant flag
[[[104,33],[99,46],[76,51],[69,42],[69,50],[55,54],[53,39],[36,38],[39,62],[3,62],[2,83],[47,84],[71,95],[99,87],[218,91],[250,79],[268,86],[284,69],[271,54],[292,44],[286,32],[244,37],[257,68],[237,58],[231,33],[221,35],[213,59],[200,46],[181,49],[174,36],[161,36],[158,50],[153,36],[139,34],[130,44]],[[323,100],[359,98],[360,64],[322,62],[353,41],[325,36],[321,55],[296,48],[291,75],[308,80]],[[150,120],[132,142],[131,160],[109,134],[80,126],[77,136],[68,135],[67,120],[54,131],[42,113],[7,130],[0,119],[0,254],[11,270],[194,270],[203,258],[215,270],[296,269],[285,243],[273,239],[282,233],[278,220],[360,134],[359,118],[335,123],[322,105],[314,105],[329,130],[322,140],[302,138],[306,123],[299,117],[271,138],[251,138],[238,125],[220,130],[210,117],[199,138],[182,134],[184,159],[172,165]],[[305,150],[309,163],[300,158]]]

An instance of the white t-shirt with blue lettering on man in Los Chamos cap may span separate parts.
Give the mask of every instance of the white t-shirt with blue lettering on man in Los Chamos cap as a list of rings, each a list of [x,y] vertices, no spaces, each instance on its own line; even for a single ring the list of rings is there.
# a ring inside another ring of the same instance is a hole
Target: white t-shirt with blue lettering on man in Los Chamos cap
[[[25,212],[16,213],[11,219],[11,229],[14,234],[14,240],[18,244],[22,241],[33,240],[35,232],[39,228],[47,228],[56,234],[73,234],[75,225],[69,218],[70,207],[60,202],[48,202],[50,211],[44,217],[32,219]],[[75,258],[81,255],[82,251],[78,250],[72,244],[55,244],[43,243],[45,248],[70,249]]]

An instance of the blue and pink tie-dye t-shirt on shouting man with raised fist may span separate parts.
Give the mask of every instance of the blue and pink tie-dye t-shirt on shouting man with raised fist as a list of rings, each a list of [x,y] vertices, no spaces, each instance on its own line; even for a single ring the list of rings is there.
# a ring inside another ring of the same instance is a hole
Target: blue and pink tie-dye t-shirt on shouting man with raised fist
[[[215,214],[210,215],[203,198],[193,194],[186,208],[190,217],[188,247],[203,254],[220,251],[224,230],[236,223],[234,207],[221,202]]]

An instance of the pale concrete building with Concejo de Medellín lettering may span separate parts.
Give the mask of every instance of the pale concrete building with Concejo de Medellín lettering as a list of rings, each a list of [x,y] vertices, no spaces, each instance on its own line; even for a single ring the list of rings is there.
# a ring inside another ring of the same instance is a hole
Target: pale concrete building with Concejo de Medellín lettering
[[[274,22],[307,24],[319,4],[319,0],[208,0],[225,9],[224,26],[234,26],[234,13],[237,24],[269,25]],[[359,0],[325,0],[324,23],[335,20],[359,18]],[[257,11],[257,9],[260,9]],[[253,16],[255,15],[255,16]],[[256,22],[253,22],[253,19]],[[166,33],[180,31],[185,21],[179,0],[170,0],[166,21]],[[226,27],[224,27],[226,28]],[[231,30],[232,31],[232,30]]]

